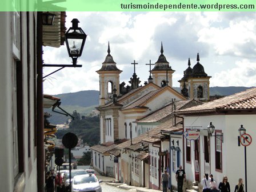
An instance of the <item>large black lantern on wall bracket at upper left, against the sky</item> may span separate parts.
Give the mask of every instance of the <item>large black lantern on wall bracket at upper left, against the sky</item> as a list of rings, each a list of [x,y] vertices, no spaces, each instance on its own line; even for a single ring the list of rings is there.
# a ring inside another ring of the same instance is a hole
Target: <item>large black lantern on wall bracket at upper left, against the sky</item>
[[[81,27],[78,27],[78,19],[73,19],[71,23],[72,27],[70,27],[65,34],[65,42],[67,52],[69,53],[69,57],[72,58],[73,65],[77,65],[77,58],[82,55],[87,35],[83,32]]]

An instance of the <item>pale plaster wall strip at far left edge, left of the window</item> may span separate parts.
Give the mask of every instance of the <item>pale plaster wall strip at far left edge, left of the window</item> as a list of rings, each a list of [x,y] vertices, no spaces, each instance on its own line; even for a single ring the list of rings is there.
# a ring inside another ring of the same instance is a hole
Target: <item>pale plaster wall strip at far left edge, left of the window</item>
[[[1,31],[0,42],[1,42],[1,51],[0,58],[2,60],[1,70],[0,70],[0,87],[1,87],[1,97],[0,99],[0,107],[1,109],[5,109],[4,113],[0,115],[1,119],[1,134],[0,134],[0,144],[1,144],[1,152],[5,155],[0,155],[0,169],[1,174],[5,175],[0,179],[0,186],[5,186],[6,191],[13,191],[13,155],[12,155],[12,85],[11,85],[11,18],[10,12],[2,12],[0,13],[0,22],[2,27],[6,30]]]

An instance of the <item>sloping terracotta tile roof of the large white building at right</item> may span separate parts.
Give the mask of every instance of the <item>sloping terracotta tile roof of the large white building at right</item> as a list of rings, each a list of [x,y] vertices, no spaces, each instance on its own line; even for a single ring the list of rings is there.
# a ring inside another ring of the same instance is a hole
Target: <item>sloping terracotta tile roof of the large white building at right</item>
[[[175,113],[200,113],[215,110],[234,110],[234,109],[256,109],[256,87],[233,95],[229,95],[203,105],[176,111]]]

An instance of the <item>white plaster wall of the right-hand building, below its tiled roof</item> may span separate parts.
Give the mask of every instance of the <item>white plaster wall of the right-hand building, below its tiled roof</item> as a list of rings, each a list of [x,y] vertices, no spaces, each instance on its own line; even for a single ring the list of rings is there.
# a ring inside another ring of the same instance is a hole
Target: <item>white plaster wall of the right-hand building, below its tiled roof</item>
[[[215,126],[215,130],[222,130],[223,133],[223,144],[222,144],[222,164],[223,169],[222,172],[218,172],[215,170],[215,138],[211,137],[210,139],[210,162],[211,162],[211,173],[214,175],[214,178],[219,183],[222,181],[224,175],[227,175],[229,178],[231,191],[234,190],[234,186],[237,184],[239,178],[243,178],[245,183],[245,155],[244,149],[242,145],[238,147],[238,129],[243,125],[246,128],[246,133],[250,134],[253,138],[251,145],[246,147],[247,152],[247,187],[248,191],[254,190],[254,164],[256,162],[255,155],[255,147],[256,144],[254,142],[254,137],[256,135],[255,130],[255,118],[256,115],[211,115],[211,116],[203,116],[199,117],[185,117],[185,126],[203,126],[202,129],[206,129],[209,122],[213,122]],[[204,173],[203,166],[203,149],[202,149],[202,141],[201,145],[201,178]],[[193,151],[194,148],[191,150]],[[185,152],[186,154],[186,152]],[[191,153],[192,155],[193,153]],[[192,157],[193,161],[194,157]],[[193,162],[192,162],[193,165]],[[186,163],[186,173],[187,178],[193,181],[194,167],[192,168],[189,164]]]

